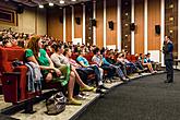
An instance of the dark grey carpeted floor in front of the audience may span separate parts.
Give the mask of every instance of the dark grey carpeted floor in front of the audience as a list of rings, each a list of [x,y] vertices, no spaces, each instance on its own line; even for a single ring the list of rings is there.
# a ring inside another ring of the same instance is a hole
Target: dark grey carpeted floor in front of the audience
[[[77,120],[180,120],[180,72],[175,83],[166,74],[137,79],[110,91]]]

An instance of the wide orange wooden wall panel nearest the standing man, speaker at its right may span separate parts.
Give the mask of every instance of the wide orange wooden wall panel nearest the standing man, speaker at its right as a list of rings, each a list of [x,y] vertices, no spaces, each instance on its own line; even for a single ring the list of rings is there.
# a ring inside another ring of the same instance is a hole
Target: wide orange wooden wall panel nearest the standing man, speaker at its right
[[[155,33],[155,25],[160,25],[160,0],[148,0],[148,50],[160,49],[160,35]]]

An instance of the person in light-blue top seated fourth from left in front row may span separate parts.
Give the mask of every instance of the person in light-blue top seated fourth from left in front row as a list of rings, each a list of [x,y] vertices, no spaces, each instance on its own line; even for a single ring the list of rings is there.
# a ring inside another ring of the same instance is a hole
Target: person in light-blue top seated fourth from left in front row
[[[103,71],[101,68],[98,68],[96,64],[89,65],[87,59],[83,57],[84,55],[85,55],[84,51],[80,50],[79,51],[79,57],[76,58],[76,61],[83,68],[92,68],[95,71],[95,74],[96,74],[96,86],[98,87],[97,88],[97,92],[101,93],[101,91],[99,91],[100,88],[107,89],[107,87],[105,87],[104,84],[103,84],[103,74],[104,74],[104,71]]]

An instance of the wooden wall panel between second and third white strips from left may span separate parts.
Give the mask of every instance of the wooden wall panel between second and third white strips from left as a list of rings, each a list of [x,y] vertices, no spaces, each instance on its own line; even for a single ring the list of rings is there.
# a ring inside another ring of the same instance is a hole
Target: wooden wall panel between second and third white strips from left
[[[76,24],[75,17],[80,17],[80,25]],[[74,38],[83,39],[83,5],[74,5]]]

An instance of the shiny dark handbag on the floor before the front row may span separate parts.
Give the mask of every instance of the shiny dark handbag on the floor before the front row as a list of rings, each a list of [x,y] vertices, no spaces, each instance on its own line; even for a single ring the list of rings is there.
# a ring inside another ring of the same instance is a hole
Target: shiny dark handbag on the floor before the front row
[[[67,98],[62,92],[52,95],[46,100],[47,115],[58,115],[65,110]]]

